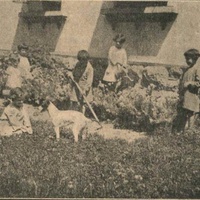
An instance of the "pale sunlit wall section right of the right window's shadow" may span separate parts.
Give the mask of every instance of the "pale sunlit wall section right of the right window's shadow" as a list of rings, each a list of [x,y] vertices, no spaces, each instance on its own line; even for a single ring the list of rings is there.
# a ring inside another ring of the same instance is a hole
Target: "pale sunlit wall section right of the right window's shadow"
[[[169,64],[185,65],[183,53],[190,48],[200,50],[200,2],[170,2],[176,7],[177,19],[168,33],[159,58]]]

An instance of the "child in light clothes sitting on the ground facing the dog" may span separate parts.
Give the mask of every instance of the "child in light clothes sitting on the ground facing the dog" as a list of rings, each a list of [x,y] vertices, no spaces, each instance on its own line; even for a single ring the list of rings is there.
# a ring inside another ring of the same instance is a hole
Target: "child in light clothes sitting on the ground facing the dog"
[[[32,134],[32,126],[23,105],[23,91],[21,88],[11,90],[10,97],[12,102],[4,109],[0,117],[0,135],[11,136],[21,133]]]

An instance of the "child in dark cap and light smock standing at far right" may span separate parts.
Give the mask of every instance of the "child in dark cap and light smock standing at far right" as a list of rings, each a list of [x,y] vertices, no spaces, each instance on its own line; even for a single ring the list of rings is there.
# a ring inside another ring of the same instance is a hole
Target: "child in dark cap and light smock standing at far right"
[[[196,62],[200,54],[197,49],[189,49],[184,56],[188,68],[180,79],[177,116],[172,125],[172,132],[178,133],[184,133],[186,124],[192,128],[199,112],[200,66]]]

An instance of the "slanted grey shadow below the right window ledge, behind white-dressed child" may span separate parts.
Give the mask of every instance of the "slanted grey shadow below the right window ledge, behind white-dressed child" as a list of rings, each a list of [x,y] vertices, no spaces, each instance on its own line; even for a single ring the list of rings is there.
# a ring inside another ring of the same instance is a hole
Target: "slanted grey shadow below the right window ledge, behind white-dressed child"
[[[113,37],[121,32],[126,36],[124,47],[128,56],[157,56],[173,23],[168,22],[162,30],[159,22],[141,22],[139,27],[133,22],[124,22],[118,23],[112,30],[105,16],[100,15],[89,51],[95,57],[107,57]]]

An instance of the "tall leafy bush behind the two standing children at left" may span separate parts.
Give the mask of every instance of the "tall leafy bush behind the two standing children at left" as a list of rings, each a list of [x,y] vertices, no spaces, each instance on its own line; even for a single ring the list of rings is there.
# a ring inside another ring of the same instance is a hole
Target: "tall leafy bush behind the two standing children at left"
[[[65,65],[49,55],[43,47],[30,47],[28,53],[32,65],[33,79],[23,79],[22,88],[25,92],[25,101],[37,104],[41,98],[51,96],[54,101],[69,99],[70,81],[66,76]],[[9,57],[5,57],[0,65],[0,86],[3,89],[6,83],[5,70]]]

